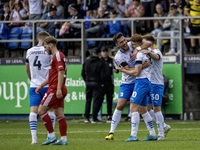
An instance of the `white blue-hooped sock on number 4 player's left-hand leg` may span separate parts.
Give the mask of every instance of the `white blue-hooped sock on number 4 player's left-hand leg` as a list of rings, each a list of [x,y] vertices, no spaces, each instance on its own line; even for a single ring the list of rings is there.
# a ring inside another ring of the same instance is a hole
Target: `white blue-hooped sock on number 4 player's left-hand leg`
[[[32,139],[37,139],[37,114],[30,112],[29,124],[31,128]]]

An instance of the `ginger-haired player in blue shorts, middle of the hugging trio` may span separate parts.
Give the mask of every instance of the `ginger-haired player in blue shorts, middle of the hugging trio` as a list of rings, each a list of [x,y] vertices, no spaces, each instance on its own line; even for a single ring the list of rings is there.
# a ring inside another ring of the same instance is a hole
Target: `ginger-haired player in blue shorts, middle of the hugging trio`
[[[133,49],[141,50],[142,35],[135,34],[131,37],[131,46]],[[150,114],[147,111],[148,95],[151,89],[150,82],[150,67],[142,69],[142,64],[150,57],[146,54],[138,51],[136,53],[136,64],[134,69],[127,70],[126,68],[118,68],[120,71],[125,72],[129,75],[136,76],[135,87],[130,101],[130,111],[131,111],[131,136],[126,140],[138,141],[137,132],[140,122],[139,113],[142,115],[144,122],[149,130],[150,135],[144,139],[144,141],[157,140],[157,136],[153,127],[153,122]]]

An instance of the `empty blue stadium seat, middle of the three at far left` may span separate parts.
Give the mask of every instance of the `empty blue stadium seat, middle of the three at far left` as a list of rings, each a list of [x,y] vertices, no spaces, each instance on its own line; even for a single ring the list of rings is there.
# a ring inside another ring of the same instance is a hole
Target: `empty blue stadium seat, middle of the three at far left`
[[[20,27],[14,27],[9,30],[8,39],[9,40],[18,40],[22,34],[22,29]],[[9,42],[8,49],[17,49],[17,42]]]

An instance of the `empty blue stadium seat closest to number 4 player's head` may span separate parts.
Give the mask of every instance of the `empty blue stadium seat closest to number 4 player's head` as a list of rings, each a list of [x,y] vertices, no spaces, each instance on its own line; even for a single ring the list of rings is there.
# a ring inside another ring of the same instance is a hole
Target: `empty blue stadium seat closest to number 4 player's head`
[[[32,32],[33,32],[33,28],[32,27],[24,28],[22,30],[21,39],[31,40],[32,39]],[[21,42],[20,43],[20,48],[21,49],[28,49],[30,47],[31,47],[31,42]]]

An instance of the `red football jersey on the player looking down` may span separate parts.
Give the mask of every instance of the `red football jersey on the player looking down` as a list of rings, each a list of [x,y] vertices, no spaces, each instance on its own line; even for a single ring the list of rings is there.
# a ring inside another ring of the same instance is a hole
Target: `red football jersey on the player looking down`
[[[65,87],[66,70],[67,70],[66,62],[67,61],[66,61],[65,55],[62,52],[58,51],[53,55],[53,58],[51,60],[50,67],[49,67],[48,83],[49,83],[50,89],[57,89],[59,70],[65,71],[62,89]]]

